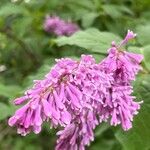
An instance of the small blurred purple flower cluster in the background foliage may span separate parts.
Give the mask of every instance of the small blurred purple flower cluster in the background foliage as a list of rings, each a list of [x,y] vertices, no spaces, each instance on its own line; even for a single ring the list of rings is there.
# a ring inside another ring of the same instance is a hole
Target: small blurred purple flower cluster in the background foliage
[[[44,30],[57,36],[70,36],[79,30],[77,24],[66,22],[56,16],[47,16],[44,22]]]

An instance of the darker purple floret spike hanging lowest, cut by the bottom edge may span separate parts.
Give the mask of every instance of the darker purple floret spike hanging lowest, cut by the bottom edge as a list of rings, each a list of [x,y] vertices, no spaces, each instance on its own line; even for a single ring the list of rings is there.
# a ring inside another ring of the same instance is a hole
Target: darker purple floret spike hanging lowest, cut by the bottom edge
[[[96,125],[98,120],[94,111],[84,109],[71,124],[57,133],[59,139],[55,150],[85,150],[85,146],[94,140]]]

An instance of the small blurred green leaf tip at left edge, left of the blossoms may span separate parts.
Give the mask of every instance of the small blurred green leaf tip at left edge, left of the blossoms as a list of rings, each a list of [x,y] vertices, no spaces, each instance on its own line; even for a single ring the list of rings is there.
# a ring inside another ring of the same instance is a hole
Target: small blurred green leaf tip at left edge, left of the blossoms
[[[0,83],[0,96],[14,98],[22,89],[17,85],[4,85]]]

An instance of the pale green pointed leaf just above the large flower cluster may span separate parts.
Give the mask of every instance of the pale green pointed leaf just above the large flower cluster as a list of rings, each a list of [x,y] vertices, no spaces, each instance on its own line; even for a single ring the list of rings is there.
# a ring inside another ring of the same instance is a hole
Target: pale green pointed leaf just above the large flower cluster
[[[110,32],[100,32],[97,29],[88,29],[76,32],[71,37],[60,37],[55,40],[58,46],[75,45],[91,52],[107,53],[112,41],[120,41],[120,37]]]

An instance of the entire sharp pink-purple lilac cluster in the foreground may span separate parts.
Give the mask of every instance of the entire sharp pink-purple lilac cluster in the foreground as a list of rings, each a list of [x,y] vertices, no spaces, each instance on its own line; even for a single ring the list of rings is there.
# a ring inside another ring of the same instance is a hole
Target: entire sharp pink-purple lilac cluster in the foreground
[[[23,136],[39,133],[44,121],[54,128],[61,126],[56,150],[84,150],[103,121],[129,130],[140,109],[141,102],[132,96],[132,81],[142,69],[143,56],[120,49],[134,37],[128,31],[119,46],[113,42],[108,56],[98,64],[92,55],[82,55],[80,61],[56,60],[45,79],[34,81],[32,89],[15,99],[16,105],[24,106],[9,119],[9,125]]]

